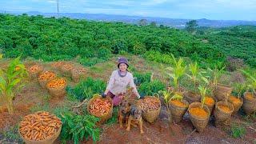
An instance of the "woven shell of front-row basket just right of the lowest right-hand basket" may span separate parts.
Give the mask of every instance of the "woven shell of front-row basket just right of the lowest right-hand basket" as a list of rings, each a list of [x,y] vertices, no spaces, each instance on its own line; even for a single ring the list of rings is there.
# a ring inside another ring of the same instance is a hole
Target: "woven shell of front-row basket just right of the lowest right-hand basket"
[[[221,105],[228,106],[230,108],[230,112],[226,113],[226,111],[220,109],[218,106]],[[233,111],[234,106],[232,105],[232,103],[227,102],[226,104],[225,101],[216,102],[214,109],[215,126],[229,125],[231,114],[233,113]]]

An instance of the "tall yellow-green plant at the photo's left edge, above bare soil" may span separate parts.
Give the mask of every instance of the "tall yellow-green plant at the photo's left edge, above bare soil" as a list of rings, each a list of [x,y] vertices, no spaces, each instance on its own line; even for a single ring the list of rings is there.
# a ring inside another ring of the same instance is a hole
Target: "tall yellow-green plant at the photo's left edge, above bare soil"
[[[13,113],[13,99],[15,90],[23,86],[18,86],[26,77],[26,68],[20,62],[20,57],[12,60],[6,70],[0,69],[0,100],[7,107],[10,114]]]

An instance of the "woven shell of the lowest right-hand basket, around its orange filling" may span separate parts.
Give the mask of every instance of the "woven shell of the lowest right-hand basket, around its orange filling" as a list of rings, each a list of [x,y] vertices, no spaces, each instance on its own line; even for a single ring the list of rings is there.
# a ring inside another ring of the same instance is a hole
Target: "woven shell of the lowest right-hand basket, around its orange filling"
[[[191,108],[195,108],[195,107],[201,108],[201,102],[191,103],[189,106],[189,114],[190,114]],[[207,115],[205,118],[198,117],[197,115],[194,115],[194,114],[190,114],[190,121],[192,122],[193,126],[196,128],[196,130],[198,130],[199,133],[202,133],[203,130],[205,130],[210,118],[210,110],[208,109],[208,107],[203,106],[202,109],[206,110]]]

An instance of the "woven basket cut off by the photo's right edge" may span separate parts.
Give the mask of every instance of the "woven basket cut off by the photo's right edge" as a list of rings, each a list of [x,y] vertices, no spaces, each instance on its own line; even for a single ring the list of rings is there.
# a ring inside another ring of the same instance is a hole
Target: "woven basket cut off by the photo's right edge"
[[[245,110],[246,114],[253,114],[256,111],[256,98],[248,99],[246,98],[246,94],[252,94],[250,92],[244,93],[244,102],[242,104],[242,109]]]

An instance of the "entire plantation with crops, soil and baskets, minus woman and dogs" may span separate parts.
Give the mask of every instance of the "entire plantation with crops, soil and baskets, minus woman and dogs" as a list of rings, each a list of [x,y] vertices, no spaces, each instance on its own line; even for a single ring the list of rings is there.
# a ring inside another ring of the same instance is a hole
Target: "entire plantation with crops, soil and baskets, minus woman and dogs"
[[[26,14],[0,20],[0,143],[256,142],[254,27],[190,34]],[[120,107],[100,95],[118,57],[145,96],[125,94],[142,109],[144,132],[120,128]]]

